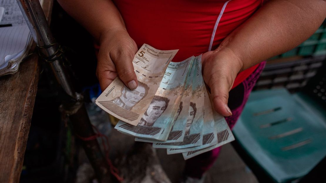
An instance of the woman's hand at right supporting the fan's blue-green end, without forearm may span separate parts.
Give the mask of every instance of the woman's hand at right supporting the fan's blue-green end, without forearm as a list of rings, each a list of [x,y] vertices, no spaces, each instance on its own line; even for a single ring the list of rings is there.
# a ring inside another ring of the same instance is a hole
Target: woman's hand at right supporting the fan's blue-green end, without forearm
[[[223,116],[232,115],[228,107],[229,91],[242,66],[242,61],[228,48],[202,55],[204,81],[211,89],[215,111]]]

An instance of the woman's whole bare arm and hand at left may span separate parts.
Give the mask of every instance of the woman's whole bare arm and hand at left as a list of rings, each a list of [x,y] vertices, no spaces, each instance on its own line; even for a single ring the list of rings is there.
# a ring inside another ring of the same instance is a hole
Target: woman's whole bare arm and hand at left
[[[132,59],[135,41],[111,0],[58,0],[61,7],[90,32],[100,44],[96,75],[102,91],[119,76],[129,89],[138,86]]]

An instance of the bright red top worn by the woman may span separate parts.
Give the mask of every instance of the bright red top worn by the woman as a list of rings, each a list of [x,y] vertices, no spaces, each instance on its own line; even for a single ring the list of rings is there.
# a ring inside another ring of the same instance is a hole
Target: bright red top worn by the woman
[[[262,0],[113,0],[127,31],[138,46],[179,49],[172,61],[185,60],[216,49],[247,20]],[[255,65],[238,73],[233,87],[244,81]],[[232,88],[233,88],[232,87]]]

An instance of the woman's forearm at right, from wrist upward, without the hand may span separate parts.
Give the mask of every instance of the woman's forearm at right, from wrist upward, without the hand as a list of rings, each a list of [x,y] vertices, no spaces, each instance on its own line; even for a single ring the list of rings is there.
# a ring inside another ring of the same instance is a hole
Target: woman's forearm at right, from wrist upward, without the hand
[[[217,48],[231,53],[243,71],[309,38],[326,17],[324,0],[270,0]]]

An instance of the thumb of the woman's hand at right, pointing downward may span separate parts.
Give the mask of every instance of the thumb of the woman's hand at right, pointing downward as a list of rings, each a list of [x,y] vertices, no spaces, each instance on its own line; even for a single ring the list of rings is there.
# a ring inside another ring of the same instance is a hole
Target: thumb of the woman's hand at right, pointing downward
[[[216,74],[210,80],[209,86],[211,88],[214,109],[223,116],[232,115],[232,112],[228,107],[229,91],[232,85],[233,80],[228,78],[227,75]]]

